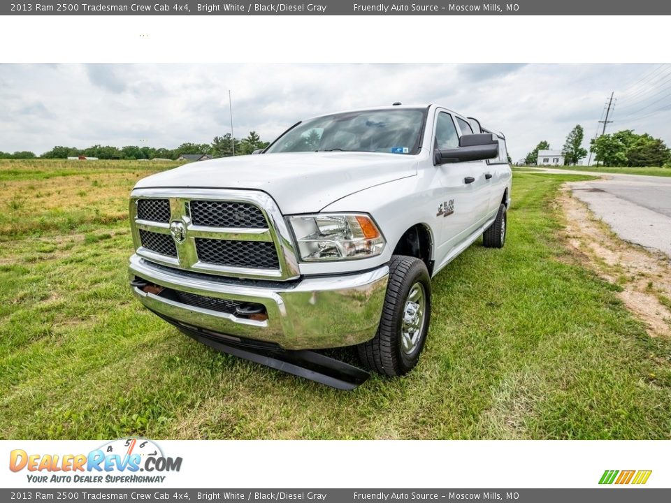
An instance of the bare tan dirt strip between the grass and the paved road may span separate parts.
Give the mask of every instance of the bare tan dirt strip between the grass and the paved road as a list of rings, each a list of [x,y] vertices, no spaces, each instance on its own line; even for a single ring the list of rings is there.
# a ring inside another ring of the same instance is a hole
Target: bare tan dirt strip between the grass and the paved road
[[[566,242],[574,256],[608,282],[618,284],[619,298],[643,321],[651,337],[671,337],[671,310],[660,299],[671,297],[671,261],[619,239],[563,187],[557,198],[565,215]]]

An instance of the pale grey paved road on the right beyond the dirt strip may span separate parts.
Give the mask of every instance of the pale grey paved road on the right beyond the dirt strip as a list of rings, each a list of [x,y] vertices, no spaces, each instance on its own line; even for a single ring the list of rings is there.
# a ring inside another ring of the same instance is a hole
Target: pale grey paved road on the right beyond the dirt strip
[[[671,256],[671,177],[538,169],[601,177],[569,187],[622,239]]]

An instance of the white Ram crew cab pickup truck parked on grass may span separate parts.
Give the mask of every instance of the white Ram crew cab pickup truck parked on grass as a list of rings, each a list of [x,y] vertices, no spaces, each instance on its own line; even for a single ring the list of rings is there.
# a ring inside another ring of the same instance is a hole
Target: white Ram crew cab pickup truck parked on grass
[[[505,138],[438,105],[298,122],[258,155],[187,164],[131,193],[131,289],[219,351],[351,389],[355,346],[398,376],[424,347],[431,277],[505,243]]]

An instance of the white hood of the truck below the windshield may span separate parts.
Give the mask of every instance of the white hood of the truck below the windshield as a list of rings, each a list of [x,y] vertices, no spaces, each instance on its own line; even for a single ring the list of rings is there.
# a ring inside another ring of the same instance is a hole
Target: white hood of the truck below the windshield
[[[414,156],[300,152],[189,163],[143,178],[135,187],[257,189],[270,194],[282,213],[292,214],[318,212],[354,192],[416,174]]]

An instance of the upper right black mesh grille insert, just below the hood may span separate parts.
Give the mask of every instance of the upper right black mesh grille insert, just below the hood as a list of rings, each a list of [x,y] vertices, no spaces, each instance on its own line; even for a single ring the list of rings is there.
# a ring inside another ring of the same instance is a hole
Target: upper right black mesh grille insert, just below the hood
[[[266,228],[268,222],[258,207],[232,201],[191,201],[194,225],[229,228]]]

